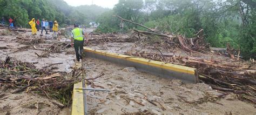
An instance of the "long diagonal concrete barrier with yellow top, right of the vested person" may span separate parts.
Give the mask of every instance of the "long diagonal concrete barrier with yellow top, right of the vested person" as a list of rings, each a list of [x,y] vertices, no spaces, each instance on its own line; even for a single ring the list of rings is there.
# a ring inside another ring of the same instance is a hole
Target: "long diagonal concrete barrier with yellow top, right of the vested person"
[[[192,67],[94,50],[86,47],[84,47],[84,51],[86,57],[98,58],[124,66],[135,67],[139,71],[149,72],[163,78],[181,79],[186,83],[198,83],[197,69]]]

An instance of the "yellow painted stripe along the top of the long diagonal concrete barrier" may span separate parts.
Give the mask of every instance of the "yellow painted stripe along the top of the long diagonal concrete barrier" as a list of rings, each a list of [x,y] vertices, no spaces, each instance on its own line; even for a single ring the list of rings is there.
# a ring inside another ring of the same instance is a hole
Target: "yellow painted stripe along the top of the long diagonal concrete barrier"
[[[163,68],[163,69],[177,71],[177,72],[188,73],[188,74],[191,74],[191,75],[194,75],[195,70],[196,70],[192,67],[174,65],[174,64],[170,64],[170,63],[164,63],[164,62],[159,62],[159,61],[150,60],[150,59],[143,59],[143,58],[134,57],[134,56],[121,55],[121,54],[118,54],[118,53],[110,53],[110,52],[101,51],[101,50],[94,50],[94,49],[86,48],[86,47],[84,47],[84,50],[85,50],[85,52],[92,52],[92,53],[97,53],[97,54],[103,55],[103,56],[125,59],[125,60],[129,60],[131,62],[136,62],[136,63],[155,66],[155,67],[160,67],[160,68]]]

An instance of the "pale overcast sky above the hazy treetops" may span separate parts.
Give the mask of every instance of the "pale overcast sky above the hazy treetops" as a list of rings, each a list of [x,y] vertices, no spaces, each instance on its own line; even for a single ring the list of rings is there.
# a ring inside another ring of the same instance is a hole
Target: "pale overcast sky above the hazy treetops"
[[[64,0],[71,6],[79,5],[91,5],[92,3],[103,8],[113,8],[115,4],[118,3],[118,0]]]

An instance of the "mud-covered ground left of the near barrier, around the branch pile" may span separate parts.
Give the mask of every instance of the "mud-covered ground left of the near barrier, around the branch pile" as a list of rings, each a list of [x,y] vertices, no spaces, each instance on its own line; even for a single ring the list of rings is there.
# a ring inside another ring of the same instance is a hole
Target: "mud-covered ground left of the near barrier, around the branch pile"
[[[52,45],[53,42],[58,41],[56,39],[53,40],[52,38],[45,39],[52,36],[51,32],[50,35],[44,34],[43,37],[39,36],[40,32],[37,32],[36,36],[32,36],[31,32],[21,32],[19,35],[16,35],[15,33],[10,35],[4,29],[1,29],[0,32],[0,60],[5,60],[6,56],[10,56],[14,59],[21,60],[22,62],[33,63],[37,69],[42,69],[50,64],[63,63],[52,65],[45,69],[53,69],[53,71],[59,72],[71,72],[71,66],[75,63],[73,60],[75,53],[66,54],[66,52],[69,50],[73,51],[72,49],[67,49],[61,53],[50,53],[49,57],[42,58],[39,58],[35,54],[35,52],[38,54],[43,52],[41,50],[36,50],[35,48],[46,49]],[[16,38],[17,36],[25,39],[41,38],[45,39],[45,43],[26,45],[24,43],[19,43],[19,39]],[[65,38],[62,40],[65,41]],[[6,87],[8,86],[0,84],[0,114],[58,114],[61,111],[59,106],[62,106],[62,104],[54,99],[49,99],[36,92],[26,93],[24,91],[12,94],[15,89],[8,89],[2,92]]]

